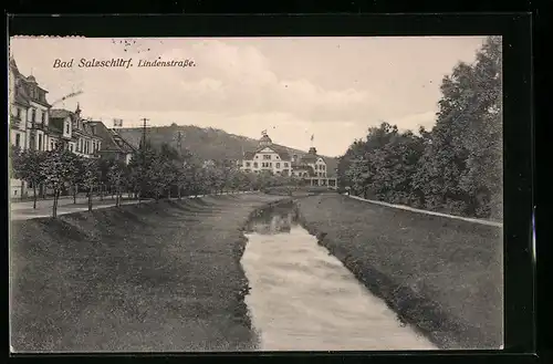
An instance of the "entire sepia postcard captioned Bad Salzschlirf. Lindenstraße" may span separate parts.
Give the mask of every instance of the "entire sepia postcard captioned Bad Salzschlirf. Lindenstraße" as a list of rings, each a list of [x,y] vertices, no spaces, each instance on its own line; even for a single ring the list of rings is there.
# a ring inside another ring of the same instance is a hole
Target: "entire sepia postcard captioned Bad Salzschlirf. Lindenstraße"
[[[12,353],[503,349],[501,37],[8,56]]]

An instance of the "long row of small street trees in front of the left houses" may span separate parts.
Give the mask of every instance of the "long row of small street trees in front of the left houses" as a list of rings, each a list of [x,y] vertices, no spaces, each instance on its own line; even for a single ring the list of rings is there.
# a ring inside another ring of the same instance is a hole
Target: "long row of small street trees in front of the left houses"
[[[158,201],[165,197],[259,190],[292,183],[291,177],[243,173],[231,160],[205,163],[167,144],[159,148],[150,144],[140,146],[128,164],[111,158],[83,158],[63,148],[11,153],[11,177],[27,181],[32,188],[34,208],[39,193],[45,195],[48,190],[53,197],[53,217],[60,196],[67,194],[73,195],[76,204],[77,194],[85,193],[92,210],[94,195],[101,199],[111,195],[119,206],[125,194],[139,201],[149,198]]]

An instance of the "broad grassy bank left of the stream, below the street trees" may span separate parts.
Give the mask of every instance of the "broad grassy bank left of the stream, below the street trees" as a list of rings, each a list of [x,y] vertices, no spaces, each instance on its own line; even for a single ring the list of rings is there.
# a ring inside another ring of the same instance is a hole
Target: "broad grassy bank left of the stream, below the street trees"
[[[14,221],[13,350],[251,349],[241,229],[279,198],[229,195]]]

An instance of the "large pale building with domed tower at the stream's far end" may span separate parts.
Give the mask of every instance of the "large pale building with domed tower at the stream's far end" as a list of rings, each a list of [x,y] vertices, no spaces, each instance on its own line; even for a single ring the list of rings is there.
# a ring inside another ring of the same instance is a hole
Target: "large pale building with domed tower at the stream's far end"
[[[293,155],[286,148],[274,145],[265,133],[254,150],[246,152],[240,169],[247,173],[270,171],[274,175],[294,176],[310,186],[336,187],[336,179],[327,177],[326,162],[311,147],[303,156]]]

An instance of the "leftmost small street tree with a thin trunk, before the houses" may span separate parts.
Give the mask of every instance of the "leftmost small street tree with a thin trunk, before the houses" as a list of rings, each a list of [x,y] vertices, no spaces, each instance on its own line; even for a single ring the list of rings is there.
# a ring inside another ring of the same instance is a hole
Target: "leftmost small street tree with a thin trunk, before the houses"
[[[36,208],[36,186],[44,181],[44,176],[40,168],[43,159],[44,153],[35,149],[25,149],[22,152],[14,149],[11,156],[14,176],[32,185],[33,209]]]

